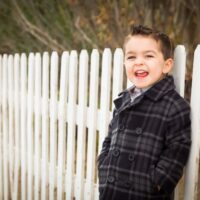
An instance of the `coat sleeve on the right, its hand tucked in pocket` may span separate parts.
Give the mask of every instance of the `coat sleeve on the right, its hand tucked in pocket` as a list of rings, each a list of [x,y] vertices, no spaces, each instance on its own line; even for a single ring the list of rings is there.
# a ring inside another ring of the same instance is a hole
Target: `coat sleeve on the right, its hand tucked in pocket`
[[[165,148],[150,178],[155,186],[171,193],[183,174],[191,145],[190,107],[185,101],[171,106],[166,130]]]

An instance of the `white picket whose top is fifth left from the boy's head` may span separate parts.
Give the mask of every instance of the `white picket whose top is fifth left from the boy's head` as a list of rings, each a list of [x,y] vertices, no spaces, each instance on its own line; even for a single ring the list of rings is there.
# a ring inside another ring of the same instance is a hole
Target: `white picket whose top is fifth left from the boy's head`
[[[75,137],[76,137],[76,99],[77,99],[77,67],[76,51],[70,54],[69,62],[69,93],[67,107],[67,162],[66,162],[66,200],[73,198],[74,167],[75,167]]]

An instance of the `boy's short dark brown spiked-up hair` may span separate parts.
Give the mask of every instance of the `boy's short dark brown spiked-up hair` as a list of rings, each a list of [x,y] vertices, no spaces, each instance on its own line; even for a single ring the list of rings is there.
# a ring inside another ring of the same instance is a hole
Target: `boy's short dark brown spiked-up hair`
[[[164,55],[164,59],[173,58],[174,47],[170,38],[163,32],[160,32],[156,29],[151,29],[142,25],[133,25],[131,27],[130,34],[125,38],[124,44],[134,35],[149,36],[155,39],[157,42],[160,42],[160,48]]]

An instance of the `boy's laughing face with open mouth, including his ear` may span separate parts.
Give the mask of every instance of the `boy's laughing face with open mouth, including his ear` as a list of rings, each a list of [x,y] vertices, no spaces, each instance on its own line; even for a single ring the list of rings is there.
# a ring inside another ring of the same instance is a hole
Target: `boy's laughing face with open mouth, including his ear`
[[[127,78],[137,88],[148,88],[160,81],[173,66],[171,58],[165,60],[160,43],[149,36],[132,36],[125,44]]]

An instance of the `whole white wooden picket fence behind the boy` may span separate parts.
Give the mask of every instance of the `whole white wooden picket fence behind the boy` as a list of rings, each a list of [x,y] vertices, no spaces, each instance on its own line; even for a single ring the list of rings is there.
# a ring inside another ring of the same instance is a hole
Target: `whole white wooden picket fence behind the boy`
[[[173,72],[184,94],[186,52]],[[96,158],[107,134],[112,100],[127,87],[123,52],[82,50],[0,56],[0,199],[97,200]],[[191,94],[192,148],[184,191],[197,199],[200,149],[200,46]],[[179,189],[181,188],[181,189]]]

